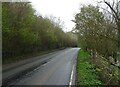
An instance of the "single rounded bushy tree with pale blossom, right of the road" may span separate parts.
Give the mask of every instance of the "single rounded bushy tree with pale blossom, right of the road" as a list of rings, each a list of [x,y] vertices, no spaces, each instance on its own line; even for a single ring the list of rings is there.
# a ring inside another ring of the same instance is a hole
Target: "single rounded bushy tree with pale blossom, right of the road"
[[[83,6],[76,14],[74,22],[80,45],[89,49],[95,58],[96,52],[108,58],[116,52],[116,33],[114,23],[104,18],[99,7]]]

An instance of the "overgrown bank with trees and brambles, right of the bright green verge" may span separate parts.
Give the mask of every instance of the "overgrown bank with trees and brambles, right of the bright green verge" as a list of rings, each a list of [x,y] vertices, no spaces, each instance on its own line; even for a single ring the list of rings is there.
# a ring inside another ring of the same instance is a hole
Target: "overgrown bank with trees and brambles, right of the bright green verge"
[[[103,3],[110,10],[83,6],[75,15],[73,31],[78,35],[79,46],[90,54],[91,63],[95,65],[103,84],[119,85],[120,2],[111,4],[104,0]]]

